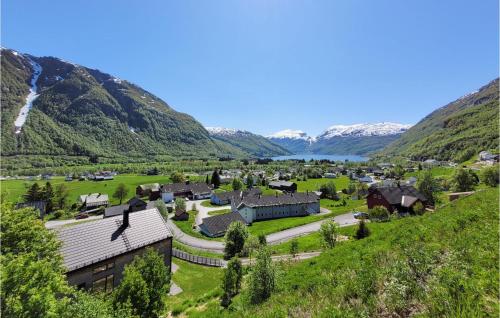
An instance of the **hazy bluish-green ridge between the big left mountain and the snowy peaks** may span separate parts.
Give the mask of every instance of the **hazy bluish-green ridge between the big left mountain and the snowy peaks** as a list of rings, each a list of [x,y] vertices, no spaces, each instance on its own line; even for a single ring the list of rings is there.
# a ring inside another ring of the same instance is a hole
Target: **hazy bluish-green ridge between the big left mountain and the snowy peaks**
[[[271,140],[248,131],[207,127],[210,136],[222,144],[230,145],[255,157],[290,155],[291,152]]]

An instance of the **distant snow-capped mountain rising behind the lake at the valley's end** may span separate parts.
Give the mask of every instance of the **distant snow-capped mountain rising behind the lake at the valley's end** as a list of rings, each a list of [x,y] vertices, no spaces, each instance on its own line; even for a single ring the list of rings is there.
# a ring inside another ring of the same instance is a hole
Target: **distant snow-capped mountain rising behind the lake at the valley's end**
[[[302,130],[285,129],[267,138],[295,154],[364,155],[385,147],[410,127],[389,122],[335,125],[316,137],[308,136]]]

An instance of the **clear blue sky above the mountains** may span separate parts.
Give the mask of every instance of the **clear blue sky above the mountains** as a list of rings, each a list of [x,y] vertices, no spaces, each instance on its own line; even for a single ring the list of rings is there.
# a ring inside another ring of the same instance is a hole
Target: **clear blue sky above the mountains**
[[[129,80],[206,126],[416,123],[498,76],[496,0],[2,1],[2,46]]]

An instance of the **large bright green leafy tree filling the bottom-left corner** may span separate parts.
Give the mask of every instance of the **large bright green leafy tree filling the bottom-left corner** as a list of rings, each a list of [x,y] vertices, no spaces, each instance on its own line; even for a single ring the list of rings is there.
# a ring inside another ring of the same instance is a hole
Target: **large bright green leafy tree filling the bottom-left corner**
[[[3,205],[1,315],[58,317],[71,289],[64,276],[60,243],[34,209]]]

